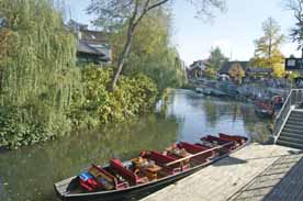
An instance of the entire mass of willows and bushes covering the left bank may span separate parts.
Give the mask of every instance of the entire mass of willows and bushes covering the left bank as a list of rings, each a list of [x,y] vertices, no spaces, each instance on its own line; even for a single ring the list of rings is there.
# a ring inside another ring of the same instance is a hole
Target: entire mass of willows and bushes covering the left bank
[[[72,129],[139,115],[153,109],[158,90],[186,80],[169,42],[169,12],[162,9],[138,26],[127,71],[114,91],[108,90],[113,67],[76,67],[76,38],[52,0],[0,0],[0,147],[32,145]],[[125,32],[115,33],[114,58]]]

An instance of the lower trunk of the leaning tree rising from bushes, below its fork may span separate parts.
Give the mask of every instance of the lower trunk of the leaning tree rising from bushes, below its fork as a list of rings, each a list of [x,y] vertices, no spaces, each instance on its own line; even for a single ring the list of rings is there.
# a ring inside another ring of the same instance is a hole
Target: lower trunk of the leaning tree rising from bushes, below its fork
[[[127,38],[126,38],[126,43],[124,45],[123,52],[121,53],[120,57],[119,57],[119,62],[117,62],[117,69],[114,74],[114,77],[112,79],[112,85],[111,85],[111,90],[114,91],[115,90],[115,86],[119,79],[119,76],[124,67],[125,64],[125,58],[128,56],[131,47],[132,47],[132,43],[133,43],[133,38],[134,38],[134,26],[130,25],[128,27],[128,34],[127,34]]]

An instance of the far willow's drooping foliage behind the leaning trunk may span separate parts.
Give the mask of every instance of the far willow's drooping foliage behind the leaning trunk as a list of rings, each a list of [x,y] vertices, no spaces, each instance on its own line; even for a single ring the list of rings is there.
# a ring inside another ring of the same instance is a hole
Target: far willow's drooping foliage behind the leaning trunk
[[[126,27],[111,36],[113,60],[117,62]],[[157,9],[146,15],[136,30],[132,51],[125,64],[126,76],[144,74],[152,78],[158,89],[181,87],[186,82],[186,71],[176,47],[170,42],[171,16],[169,11]]]

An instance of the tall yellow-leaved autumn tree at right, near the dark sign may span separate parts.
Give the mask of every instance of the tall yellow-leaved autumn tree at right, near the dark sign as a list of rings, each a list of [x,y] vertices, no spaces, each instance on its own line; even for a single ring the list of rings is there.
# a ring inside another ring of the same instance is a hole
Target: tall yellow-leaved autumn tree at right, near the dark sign
[[[262,24],[265,35],[256,40],[255,57],[252,64],[258,67],[272,68],[274,76],[284,75],[284,56],[280,51],[284,42],[284,35],[280,34],[280,26],[272,18],[269,18]]]

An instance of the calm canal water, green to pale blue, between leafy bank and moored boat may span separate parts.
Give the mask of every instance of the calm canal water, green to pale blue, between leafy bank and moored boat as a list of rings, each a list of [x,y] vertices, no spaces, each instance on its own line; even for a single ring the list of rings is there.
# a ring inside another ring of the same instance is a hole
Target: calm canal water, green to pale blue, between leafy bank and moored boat
[[[255,115],[250,104],[171,90],[162,113],[0,153],[0,200],[55,201],[53,183],[91,163],[127,159],[143,149],[162,149],[176,141],[195,142],[218,132],[266,142],[269,125],[270,121]]]

